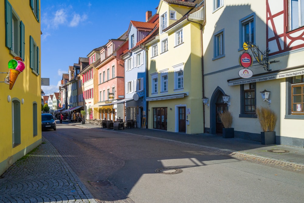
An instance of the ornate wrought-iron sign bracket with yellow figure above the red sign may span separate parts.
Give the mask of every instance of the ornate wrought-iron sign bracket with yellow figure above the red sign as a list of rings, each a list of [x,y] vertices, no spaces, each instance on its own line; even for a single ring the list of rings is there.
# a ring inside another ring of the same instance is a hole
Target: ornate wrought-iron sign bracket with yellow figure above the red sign
[[[267,48],[266,51],[261,51],[259,49],[259,47],[257,47],[255,44],[253,44],[252,42],[244,42],[243,44],[243,48],[244,48],[244,53],[248,52],[248,48],[251,50],[255,60],[259,63],[259,65],[262,65],[265,71],[271,71],[271,69],[269,69],[268,65],[271,63],[276,63],[279,61],[269,61],[269,52],[270,50]]]

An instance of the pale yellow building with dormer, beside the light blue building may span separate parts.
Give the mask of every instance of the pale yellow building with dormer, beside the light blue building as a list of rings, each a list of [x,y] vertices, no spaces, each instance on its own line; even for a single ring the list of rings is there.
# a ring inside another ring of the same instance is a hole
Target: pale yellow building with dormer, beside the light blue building
[[[203,132],[203,1],[161,0],[159,35],[148,49],[148,128]]]

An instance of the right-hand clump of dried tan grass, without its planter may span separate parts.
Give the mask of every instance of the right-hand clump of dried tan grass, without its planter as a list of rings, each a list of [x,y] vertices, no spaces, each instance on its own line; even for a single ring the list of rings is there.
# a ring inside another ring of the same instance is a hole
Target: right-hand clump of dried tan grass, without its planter
[[[277,115],[269,108],[257,107],[257,118],[261,124],[261,129],[264,132],[272,132],[275,130]]]

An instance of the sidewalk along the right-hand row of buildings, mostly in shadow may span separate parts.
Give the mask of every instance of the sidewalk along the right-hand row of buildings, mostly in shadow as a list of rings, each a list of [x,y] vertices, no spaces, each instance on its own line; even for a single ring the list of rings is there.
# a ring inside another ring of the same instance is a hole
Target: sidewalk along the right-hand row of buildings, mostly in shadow
[[[96,125],[81,125],[80,123],[69,124],[76,125],[80,128],[99,128],[102,131],[114,131],[113,129],[102,129],[100,126]],[[142,128],[125,128],[124,130],[115,131],[191,143],[193,145],[204,146],[210,151],[217,151],[233,156],[237,159],[304,173],[303,148],[285,145],[261,145],[261,142],[239,138],[222,138],[218,135],[210,135],[206,133],[188,135],[185,133],[174,133],[163,130]]]

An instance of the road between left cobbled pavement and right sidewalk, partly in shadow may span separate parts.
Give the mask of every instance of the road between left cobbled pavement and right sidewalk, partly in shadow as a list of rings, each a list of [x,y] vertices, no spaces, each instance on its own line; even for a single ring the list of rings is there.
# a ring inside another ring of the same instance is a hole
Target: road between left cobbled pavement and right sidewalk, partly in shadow
[[[304,174],[238,160],[197,145],[66,124],[58,124],[57,131],[43,131],[42,135],[98,202],[304,199]],[[164,167],[174,169],[160,171],[182,172],[155,172]]]

